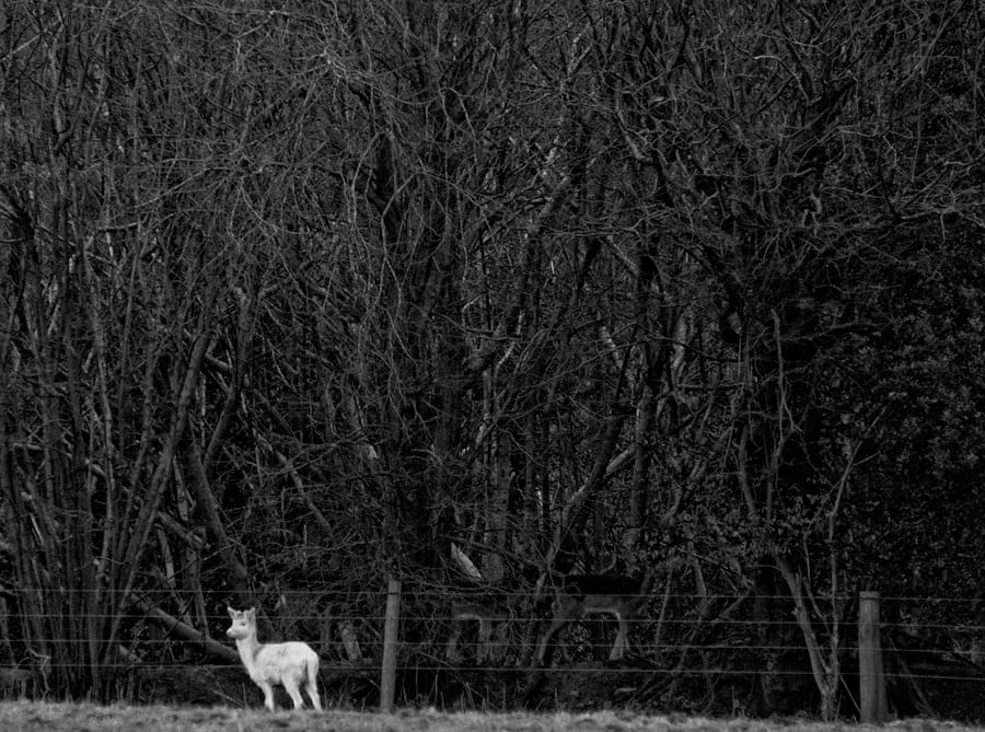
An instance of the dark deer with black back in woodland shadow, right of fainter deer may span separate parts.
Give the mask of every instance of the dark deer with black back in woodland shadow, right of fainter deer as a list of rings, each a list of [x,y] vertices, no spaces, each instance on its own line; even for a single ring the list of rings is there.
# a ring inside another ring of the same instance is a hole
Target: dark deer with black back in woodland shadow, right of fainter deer
[[[569,574],[557,586],[554,613],[547,632],[541,639],[537,662],[543,663],[551,639],[586,615],[613,615],[619,625],[610,661],[621,660],[629,649],[629,623],[644,614],[649,600],[653,572],[642,578],[623,574]]]

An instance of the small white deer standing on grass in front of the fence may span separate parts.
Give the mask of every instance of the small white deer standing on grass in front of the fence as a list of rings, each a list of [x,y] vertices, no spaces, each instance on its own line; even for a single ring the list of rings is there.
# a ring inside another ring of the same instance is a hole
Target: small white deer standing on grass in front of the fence
[[[308,690],[315,709],[322,708],[318,699],[318,654],[308,643],[262,643],[256,639],[256,608],[235,611],[227,607],[232,625],[225,635],[234,638],[240,659],[250,678],[264,690],[264,706],[274,711],[274,687],[282,685],[294,702],[294,709],[304,706],[301,685]]]

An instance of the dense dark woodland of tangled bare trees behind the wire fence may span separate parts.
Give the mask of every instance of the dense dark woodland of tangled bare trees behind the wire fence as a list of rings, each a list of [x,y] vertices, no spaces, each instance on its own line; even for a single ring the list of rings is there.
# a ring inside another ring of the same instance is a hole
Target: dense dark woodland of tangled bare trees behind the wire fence
[[[147,617],[291,596],[372,657],[389,577],[419,650],[470,585],[641,566],[826,716],[859,590],[972,642],[983,23],[5,2],[2,662],[106,698]]]

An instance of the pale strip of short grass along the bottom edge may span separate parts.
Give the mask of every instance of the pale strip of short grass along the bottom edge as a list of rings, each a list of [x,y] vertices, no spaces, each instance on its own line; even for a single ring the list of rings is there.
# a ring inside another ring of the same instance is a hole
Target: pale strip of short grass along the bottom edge
[[[586,714],[483,714],[399,711],[395,714],[336,711],[277,711],[233,709],[230,707],[101,707],[89,704],[0,702],[0,730],[45,732],[835,732],[876,729],[903,732],[963,731],[974,728],[950,722],[904,720],[884,727],[864,724],[823,724],[807,720],[702,720],[685,717],[647,717],[630,712],[603,711]]]

